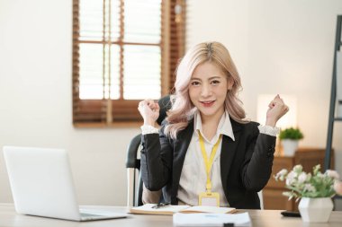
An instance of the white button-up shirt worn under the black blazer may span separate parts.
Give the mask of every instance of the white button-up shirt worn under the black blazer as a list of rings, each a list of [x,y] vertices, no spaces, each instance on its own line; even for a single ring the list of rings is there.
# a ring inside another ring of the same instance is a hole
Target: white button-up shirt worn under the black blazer
[[[205,192],[205,186],[207,182],[207,174],[205,171],[205,165],[202,157],[198,135],[198,130],[200,130],[202,134],[202,120],[201,115],[198,112],[194,116],[193,127],[193,137],[185,154],[177,194],[180,204],[187,205],[198,205],[198,196],[200,193]],[[216,135],[212,137],[211,141],[209,141],[202,134],[202,137],[204,139],[205,151],[208,157],[211,155],[212,147],[220,138],[220,134],[227,135],[232,140],[235,140],[228,112],[225,112],[220,118],[220,123],[217,128]],[[220,141],[211,167],[211,192],[217,192],[220,194],[220,206],[229,206],[226,196],[224,196],[222,182],[220,179],[221,144],[222,141]],[[229,150],[224,152],[229,152]]]

